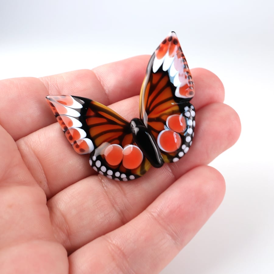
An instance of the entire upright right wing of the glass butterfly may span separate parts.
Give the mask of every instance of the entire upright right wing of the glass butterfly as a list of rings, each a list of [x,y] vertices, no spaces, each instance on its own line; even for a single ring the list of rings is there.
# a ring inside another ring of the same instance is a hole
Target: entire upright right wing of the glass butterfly
[[[153,53],[140,93],[140,118],[154,136],[165,162],[188,152],[195,127],[189,103],[194,83],[174,32]]]

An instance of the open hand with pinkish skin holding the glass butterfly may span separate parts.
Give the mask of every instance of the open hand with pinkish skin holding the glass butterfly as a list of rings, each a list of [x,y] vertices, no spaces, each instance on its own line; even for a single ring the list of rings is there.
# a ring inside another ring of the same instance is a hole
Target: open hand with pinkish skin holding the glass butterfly
[[[241,125],[212,72],[191,70],[197,112],[189,152],[131,182],[95,173],[45,102],[72,94],[138,117],[148,59],[0,81],[1,273],[157,273],[220,205],[225,181],[207,164],[236,142]]]

